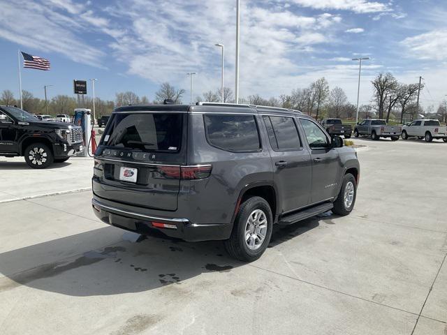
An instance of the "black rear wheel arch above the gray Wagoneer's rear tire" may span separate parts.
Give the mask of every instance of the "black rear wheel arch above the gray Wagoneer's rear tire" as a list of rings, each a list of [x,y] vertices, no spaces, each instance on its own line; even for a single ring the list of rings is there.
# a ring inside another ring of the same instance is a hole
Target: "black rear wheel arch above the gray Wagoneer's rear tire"
[[[235,211],[233,214],[233,218],[231,223],[234,224],[237,213],[240,209],[240,204],[244,203],[249,198],[252,197],[261,197],[270,205],[270,209],[272,209],[272,216],[274,222],[276,222],[277,216],[277,191],[274,188],[274,185],[270,181],[259,181],[254,184],[249,184],[245,186],[240,192],[239,197],[237,198],[237,203],[235,207]]]

